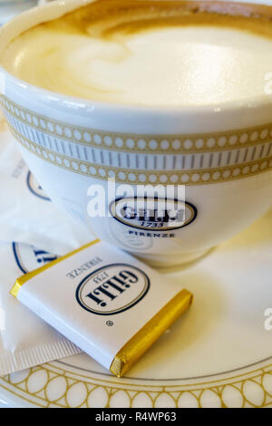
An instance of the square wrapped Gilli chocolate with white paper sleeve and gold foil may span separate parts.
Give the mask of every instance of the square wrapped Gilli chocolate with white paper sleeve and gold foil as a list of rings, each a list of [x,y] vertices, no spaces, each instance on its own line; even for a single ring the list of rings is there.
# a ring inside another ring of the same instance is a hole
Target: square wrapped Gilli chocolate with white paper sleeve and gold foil
[[[178,283],[100,240],[22,276],[11,293],[119,377],[192,302]]]

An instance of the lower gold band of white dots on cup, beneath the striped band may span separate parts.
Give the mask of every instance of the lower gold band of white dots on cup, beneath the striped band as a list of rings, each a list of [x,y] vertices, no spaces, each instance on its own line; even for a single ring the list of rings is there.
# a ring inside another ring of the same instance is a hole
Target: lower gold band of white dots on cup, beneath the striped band
[[[169,184],[169,185],[207,185],[230,180],[247,178],[259,173],[272,170],[272,156],[267,159],[250,161],[242,165],[223,167],[217,169],[179,170],[179,171],[154,171],[144,169],[119,169],[100,166],[82,160],[74,160],[62,154],[56,154],[52,150],[43,149],[39,145],[26,140],[10,129],[15,139],[37,157],[62,169],[79,173],[83,176],[91,176],[95,179],[107,180],[114,178],[121,183],[130,184]]]

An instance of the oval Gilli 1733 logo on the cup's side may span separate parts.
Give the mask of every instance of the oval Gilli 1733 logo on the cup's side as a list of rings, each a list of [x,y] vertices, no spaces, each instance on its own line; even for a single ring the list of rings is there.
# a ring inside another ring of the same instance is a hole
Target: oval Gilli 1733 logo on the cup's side
[[[170,231],[184,228],[197,218],[188,201],[168,198],[117,198],[110,206],[112,217],[131,228]]]

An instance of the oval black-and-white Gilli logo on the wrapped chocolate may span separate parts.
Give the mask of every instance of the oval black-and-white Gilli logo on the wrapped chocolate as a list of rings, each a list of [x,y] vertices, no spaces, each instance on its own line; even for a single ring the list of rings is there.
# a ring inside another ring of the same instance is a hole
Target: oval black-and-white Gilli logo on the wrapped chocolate
[[[86,276],[76,290],[76,299],[96,315],[116,315],[138,304],[151,286],[149,277],[136,266],[112,264]]]

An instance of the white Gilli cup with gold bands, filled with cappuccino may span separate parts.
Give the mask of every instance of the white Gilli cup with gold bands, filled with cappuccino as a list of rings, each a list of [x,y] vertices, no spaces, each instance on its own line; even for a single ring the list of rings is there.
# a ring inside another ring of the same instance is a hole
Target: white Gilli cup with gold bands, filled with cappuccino
[[[271,207],[272,7],[70,0],[0,32],[1,105],[50,198],[180,265]]]

